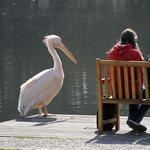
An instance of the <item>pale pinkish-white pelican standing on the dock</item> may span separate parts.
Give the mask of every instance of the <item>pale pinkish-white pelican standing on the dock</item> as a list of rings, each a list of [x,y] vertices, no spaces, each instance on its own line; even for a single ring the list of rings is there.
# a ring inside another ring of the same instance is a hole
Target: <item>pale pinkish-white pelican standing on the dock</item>
[[[45,36],[43,40],[54,60],[54,67],[46,69],[21,85],[18,111],[25,116],[31,109],[38,108],[39,116],[49,115],[46,106],[58,94],[64,79],[62,62],[55,50],[61,49],[75,64],[76,59],[56,35]],[[44,108],[44,113],[41,107]]]

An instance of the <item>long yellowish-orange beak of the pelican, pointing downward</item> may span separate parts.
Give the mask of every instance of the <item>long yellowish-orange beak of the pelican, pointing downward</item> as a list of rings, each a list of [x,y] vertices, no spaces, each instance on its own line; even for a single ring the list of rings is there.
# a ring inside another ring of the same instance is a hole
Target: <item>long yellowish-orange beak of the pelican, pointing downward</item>
[[[65,45],[62,42],[60,42],[59,45],[56,47],[61,49],[75,64],[77,64],[76,59],[73,57],[71,52],[65,47]]]

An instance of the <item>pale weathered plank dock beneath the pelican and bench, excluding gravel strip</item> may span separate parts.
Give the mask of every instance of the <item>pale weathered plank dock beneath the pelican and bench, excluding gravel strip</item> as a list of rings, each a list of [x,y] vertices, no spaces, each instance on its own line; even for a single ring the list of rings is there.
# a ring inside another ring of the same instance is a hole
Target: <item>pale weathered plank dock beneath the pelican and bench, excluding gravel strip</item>
[[[127,117],[121,117],[120,130],[104,131],[99,134],[96,128],[96,116],[61,115],[49,117],[30,116],[0,123],[0,136],[10,137],[58,137],[58,138],[127,138],[140,139],[150,136],[150,118],[142,121],[148,130],[144,133],[132,131],[126,125]]]

